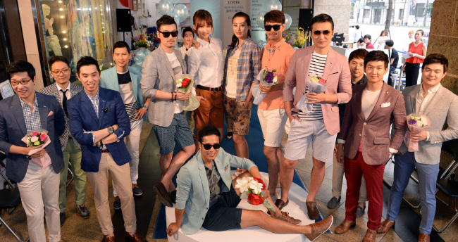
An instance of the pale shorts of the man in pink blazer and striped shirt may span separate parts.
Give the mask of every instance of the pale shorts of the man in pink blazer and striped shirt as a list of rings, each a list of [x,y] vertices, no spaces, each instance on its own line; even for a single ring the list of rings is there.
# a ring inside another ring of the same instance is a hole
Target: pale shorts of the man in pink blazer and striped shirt
[[[299,160],[305,158],[309,144],[313,157],[323,163],[334,160],[334,145],[337,134],[330,135],[323,120],[291,120],[290,134],[285,148],[285,158]]]

